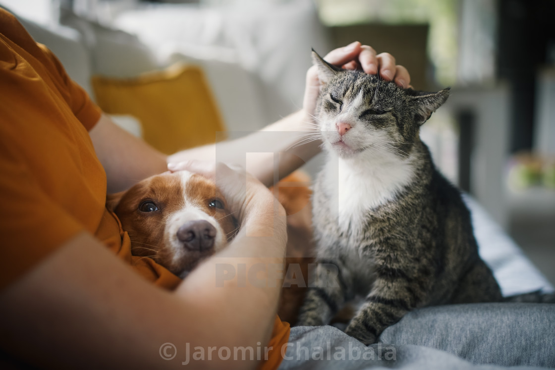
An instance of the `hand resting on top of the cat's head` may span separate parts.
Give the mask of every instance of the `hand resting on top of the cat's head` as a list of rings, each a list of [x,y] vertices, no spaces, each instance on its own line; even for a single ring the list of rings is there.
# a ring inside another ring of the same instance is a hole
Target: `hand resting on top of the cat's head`
[[[393,55],[389,53],[376,55],[376,50],[358,41],[346,47],[331,50],[324,59],[344,69],[362,69],[369,74],[380,72],[380,77],[384,80],[393,81],[402,88],[410,87],[411,77],[407,69],[402,65],[396,65]],[[306,73],[305,96],[302,104],[303,109],[310,116],[314,115],[319,92],[320,81],[317,68],[313,65]]]

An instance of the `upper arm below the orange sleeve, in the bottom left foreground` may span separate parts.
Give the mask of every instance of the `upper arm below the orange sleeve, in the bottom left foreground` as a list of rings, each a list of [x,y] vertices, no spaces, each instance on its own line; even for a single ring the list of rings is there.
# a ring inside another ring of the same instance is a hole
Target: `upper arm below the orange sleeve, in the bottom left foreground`
[[[257,342],[264,346],[268,325],[241,326],[257,303],[244,299],[245,311],[222,289],[204,293],[205,283],[191,282],[192,295],[160,290],[83,233],[2,292],[0,341],[13,356],[54,368],[181,368],[186,343],[191,349],[232,351],[251,343],[256,348]],[[260,303],[264,310],[266,303]],[[160,358],[166,342],[176,346],[174,361]],[[201,365],[256,364],[214,358]]]

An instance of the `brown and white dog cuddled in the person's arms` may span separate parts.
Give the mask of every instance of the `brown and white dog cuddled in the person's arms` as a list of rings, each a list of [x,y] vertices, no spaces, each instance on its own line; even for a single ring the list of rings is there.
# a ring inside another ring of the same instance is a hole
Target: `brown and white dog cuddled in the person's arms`
[[[278,314],[293,324],[306,290],[308,257],[312,251],[310,179],[296,172],[278,186],[278,200],[287,212],[286,271],[295,263],[305,284],[286,284]],[[132,254],[150,257],[185,278],[198,263],[233,239],[239,224],[214,181],[179,171],[140,181],[129,190],[107,197],[107,207],[122,222]],[[299,276],[285,277],[299,282]]]

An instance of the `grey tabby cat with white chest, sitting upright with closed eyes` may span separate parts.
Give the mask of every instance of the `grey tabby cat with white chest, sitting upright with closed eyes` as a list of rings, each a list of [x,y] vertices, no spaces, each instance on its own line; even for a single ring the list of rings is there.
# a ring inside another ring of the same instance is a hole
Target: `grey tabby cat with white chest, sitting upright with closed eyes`
[[[337,69],[314,52],[312,58],[322,84],[315,120],[327,161],[314,187],[320,264],[298,325],[325,325],[362,296],[346,333],[370,344],[418,307],[501,301],[478,256],[470,212],[419,137],[449,90],[402,89]]]

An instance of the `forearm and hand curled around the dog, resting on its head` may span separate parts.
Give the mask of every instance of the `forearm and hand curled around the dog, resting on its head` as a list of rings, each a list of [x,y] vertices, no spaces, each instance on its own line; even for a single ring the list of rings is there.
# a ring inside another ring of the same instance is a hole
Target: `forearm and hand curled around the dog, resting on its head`
[[[287,244],[285,210],[260,181],[244,171],[204,162],[190,163],[188,170],[215,179],[241,227],[225,249],[187,276],[177,293],[197,297],[198,302],[223,300],[224,312],[242,312],[234,321],[239,335],[256,322],[260,326],[256,330],[261,330],[256,336],[264,334],[264,343],[282,286]],[[218,307],[218,302],[210,307]],[[251,334],[243,338],[249,345],[255,344],[249,342],[255,338]]]

